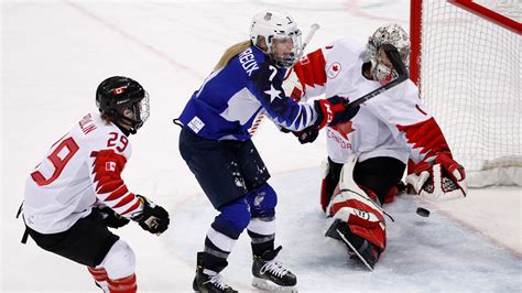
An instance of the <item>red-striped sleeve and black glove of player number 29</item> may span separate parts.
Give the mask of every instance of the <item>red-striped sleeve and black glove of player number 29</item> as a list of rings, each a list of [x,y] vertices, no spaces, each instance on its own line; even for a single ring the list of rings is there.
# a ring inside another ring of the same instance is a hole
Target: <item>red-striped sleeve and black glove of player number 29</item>
[[[168,213],[146,197],[130,192],[121,177],[127,158],[113,149],[90,154],[90,174],[96,196],[117,215],[138,221],[145,230],[161,234],[168,227]],[[107,210],[106,210],[107,211]]]

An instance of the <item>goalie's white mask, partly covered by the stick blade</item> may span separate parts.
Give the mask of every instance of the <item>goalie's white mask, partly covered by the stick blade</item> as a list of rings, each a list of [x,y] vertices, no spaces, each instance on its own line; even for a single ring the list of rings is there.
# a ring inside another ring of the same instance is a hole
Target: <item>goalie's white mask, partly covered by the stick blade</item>
[[[410,67],[410,36],[399,24],[392,23],[377,29],[368,40],[366,58],[371,62],[371,74],[376,80],[384,85],[396,78],[398,73],[385,66],[380,59],[380,48],[383,44],[396,47],[407,70]]]

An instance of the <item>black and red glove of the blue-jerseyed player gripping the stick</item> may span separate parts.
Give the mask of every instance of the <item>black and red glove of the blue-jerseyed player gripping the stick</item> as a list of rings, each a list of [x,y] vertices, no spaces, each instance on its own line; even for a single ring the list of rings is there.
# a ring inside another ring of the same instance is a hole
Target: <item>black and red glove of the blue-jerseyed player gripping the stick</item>
[[[345,104],[347,104],[347,99],[339,96],[315,100],[314,109],[317,112],[317,120],[315,121],[314,127],[322,129],[325,126],[333,127],[351,120],[359,111],[360,106],[347,110]]]

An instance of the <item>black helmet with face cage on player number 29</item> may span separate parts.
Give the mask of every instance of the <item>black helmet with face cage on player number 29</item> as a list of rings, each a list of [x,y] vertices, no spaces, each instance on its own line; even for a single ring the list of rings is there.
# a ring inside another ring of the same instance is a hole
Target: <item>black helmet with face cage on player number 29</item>
[[[149,118],[149,94],[129,77],[105,79],[96,90],[96,106],[110,121],[130,127],[132,134]]]

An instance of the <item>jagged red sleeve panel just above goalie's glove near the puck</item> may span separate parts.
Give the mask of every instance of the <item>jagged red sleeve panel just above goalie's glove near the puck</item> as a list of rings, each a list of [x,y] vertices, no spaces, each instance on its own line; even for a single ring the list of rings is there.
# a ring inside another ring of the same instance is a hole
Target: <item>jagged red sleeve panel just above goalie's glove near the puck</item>
[[[449,153],[446,139],[433,118],[411,126],[396,126],[396,128],[405,133],[407,143],[413,144],[412,149],[421,149],[421,154],[425,154],[425,158],[439,152]]]

